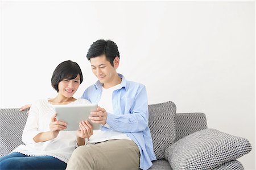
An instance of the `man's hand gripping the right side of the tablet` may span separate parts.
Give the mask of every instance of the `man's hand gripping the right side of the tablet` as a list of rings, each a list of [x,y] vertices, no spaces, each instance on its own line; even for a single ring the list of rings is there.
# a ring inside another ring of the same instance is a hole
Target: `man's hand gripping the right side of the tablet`
[[[93,123],[105,125],[107,116],[108,116],[108,113],[106,113],[106,110],[104,108],[101,108],[100,106],[98,106],[96,111],[90,112],[89,119]]]

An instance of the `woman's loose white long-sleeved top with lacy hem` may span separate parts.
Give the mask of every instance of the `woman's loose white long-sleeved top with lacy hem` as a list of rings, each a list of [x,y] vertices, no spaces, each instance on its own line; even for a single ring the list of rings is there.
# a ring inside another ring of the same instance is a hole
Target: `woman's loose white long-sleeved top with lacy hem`
[[[68,105],[90,103],[86,99],[79,98]],[[68,163],[72,152],[77,147],[76,131],[60,131],[55,139],[46,142],[35,142],[33,138],[40,132],[49,131],[49,123],[55,114],[53,105],[48,99],[40,99],[31,105],[27,122],[23,130],[22,141],[26,145],[20,145],[13,152],[19,152],[28,156],[53,156]]]

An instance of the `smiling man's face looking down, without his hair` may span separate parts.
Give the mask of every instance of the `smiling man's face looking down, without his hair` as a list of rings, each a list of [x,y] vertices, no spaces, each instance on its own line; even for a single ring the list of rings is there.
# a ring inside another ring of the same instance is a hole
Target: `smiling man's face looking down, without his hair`
[[[117,67],[119,65],[119,58],[115,57],[114,67],[106,60],[105,55],[93,57],[90,59],[92,72],[100,80],[102,84],[112,84],[114,77],[117,76]]]

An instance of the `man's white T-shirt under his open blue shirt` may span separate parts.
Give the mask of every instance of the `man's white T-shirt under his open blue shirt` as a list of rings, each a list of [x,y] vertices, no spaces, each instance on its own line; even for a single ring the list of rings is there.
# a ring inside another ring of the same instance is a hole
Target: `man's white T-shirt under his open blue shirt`
[[[102,87],[101,99],[98,102],[98,106],[103,107],[108,114],[113,114],[113,105],[112,105],[112,94],[114,90],[119,89],[120,84],[115,85],[111,88],[105,89]],[[105,127],[110,127],[107,123]],[[110,139],[128,139],[131,140],[126,134],[119,131],[101,131],[94,130],[93,135],[90,136],[89,143],[103,142]]]

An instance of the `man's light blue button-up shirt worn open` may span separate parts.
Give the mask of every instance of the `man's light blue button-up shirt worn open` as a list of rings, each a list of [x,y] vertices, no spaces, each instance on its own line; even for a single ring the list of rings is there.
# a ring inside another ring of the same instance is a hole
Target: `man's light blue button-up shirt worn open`
[[[101,126],[102,131],[116,130],[129,136],[139,147],[141,153],[140,167],[148,169],[152,160],[156,160],[153,150],[150,129],[148,128],[148,104],[147,92],[144,85],[138,82],[126,81],[122,74],[121,86],[113,92],[112,102],[114,114],[108,114],[106,122],[110,126]],[[82,94],[82,98],[92,103],[98,103],[101,99],[102,84],[89,86]]]

